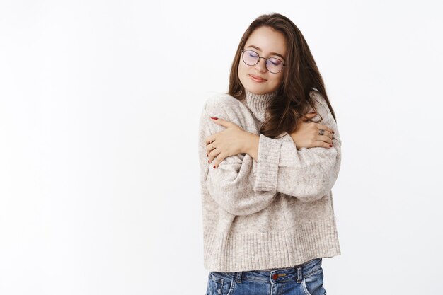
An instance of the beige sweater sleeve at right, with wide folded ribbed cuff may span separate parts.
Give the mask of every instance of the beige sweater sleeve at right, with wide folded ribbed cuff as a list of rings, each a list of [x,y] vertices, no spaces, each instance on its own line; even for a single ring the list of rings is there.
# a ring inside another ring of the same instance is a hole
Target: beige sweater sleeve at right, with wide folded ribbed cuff
[[[333,129],[333,147],[297,147],[289,134],[272,139],[260,134],[255,192],[281,192],[301,202],[313,202],[327,195],[338,178],[341,140],[337,124],[324,100],[316,94],[317,115],[321,124]]]

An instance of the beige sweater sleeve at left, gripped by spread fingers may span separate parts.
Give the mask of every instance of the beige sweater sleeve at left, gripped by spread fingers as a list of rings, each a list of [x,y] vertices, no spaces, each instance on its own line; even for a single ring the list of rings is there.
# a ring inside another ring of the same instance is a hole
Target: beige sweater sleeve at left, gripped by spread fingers
[[[209,192],[220,207],[234,215],[248,215],[265,209],[274,199],[276,192],[254,191],[257,163],[248,154],[226,157],[217,168],[208,163],[205,138],[222,132],[226,127],[217,125],[209,117],[221,117],[241,126],[235,110],[215,100],[207,100],[200,117],[199,159],[203,188]],[[243,128],[243,126],[241,126]],[[244,128],[243,128],[244,129]]]

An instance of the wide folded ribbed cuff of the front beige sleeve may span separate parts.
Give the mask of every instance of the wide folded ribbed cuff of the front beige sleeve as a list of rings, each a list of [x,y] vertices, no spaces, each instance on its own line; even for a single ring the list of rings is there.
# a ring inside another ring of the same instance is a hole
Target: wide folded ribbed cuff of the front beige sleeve
[[[277,192],[278,163],[282,141],[260,134],[258,141],[255,192]]]

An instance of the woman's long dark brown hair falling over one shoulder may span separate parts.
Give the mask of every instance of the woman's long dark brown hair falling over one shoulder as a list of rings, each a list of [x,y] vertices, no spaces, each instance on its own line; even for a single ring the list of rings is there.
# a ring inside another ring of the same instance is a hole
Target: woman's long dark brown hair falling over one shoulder
[[[245,98],[245,88],[238,78],[241,50],[243,50],[251,33],[261,26],[277,30],[286,37],[287,56],[285,59],[287,66],[284,66],[283,69],[282,84],[278,88],[275,98],[270,101],[267,107],[267,114],[263,125],[260,127],[260,134],[275,138],[284,132],[294,132],[297,129],[297,123],[309,111],[309,107],[316,111],[313,98],[309,96],[312,90],[318,91],[325,98],[335,120],[335,113],[328,100],[323,78],[318,71],[306,40],[297,25],[280,13],[258,16],[243,33],[229,72],[228,93],[238,100]],[[320,122],[321,120],[311,122]]]

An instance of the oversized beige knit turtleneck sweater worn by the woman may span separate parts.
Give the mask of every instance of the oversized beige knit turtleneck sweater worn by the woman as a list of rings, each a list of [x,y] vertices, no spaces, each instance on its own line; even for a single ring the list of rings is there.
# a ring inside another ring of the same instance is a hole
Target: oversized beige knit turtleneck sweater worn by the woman
[[[323,96],[314,90],[310,96],[321,124],[334,131],[333,147],[297,149],[287,132],[277,139],[259,134],[275,93],[246,92],[244,100],[216,93],[205,101],[198,153],[207,270],[269,270],[340,255],[331,191],[340,170],[340,135]],[[226,127],[212,116],[260,135],[257,161],[237,154],[213,168],[205,137]]]

